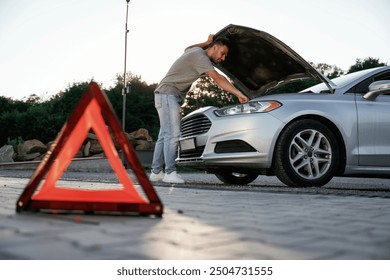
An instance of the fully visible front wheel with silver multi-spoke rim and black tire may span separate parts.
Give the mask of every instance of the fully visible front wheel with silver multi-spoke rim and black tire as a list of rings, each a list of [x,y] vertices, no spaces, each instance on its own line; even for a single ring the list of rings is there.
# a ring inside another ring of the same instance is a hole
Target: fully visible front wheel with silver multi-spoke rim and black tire
[[[280,135],[274,157],[274,171],[291,187],[321,187],[335,175],[339,146],[334,133],[316,120],[299,120]]]

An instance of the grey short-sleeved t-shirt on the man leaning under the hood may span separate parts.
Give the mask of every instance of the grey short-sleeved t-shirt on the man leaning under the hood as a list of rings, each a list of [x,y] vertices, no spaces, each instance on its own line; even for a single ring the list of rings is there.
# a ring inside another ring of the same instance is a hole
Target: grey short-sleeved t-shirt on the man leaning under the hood
[[[186,49],[168,70],[155,92],[185,98],[186,93],[202,74],[215,71],[206,51],[199,47]]]

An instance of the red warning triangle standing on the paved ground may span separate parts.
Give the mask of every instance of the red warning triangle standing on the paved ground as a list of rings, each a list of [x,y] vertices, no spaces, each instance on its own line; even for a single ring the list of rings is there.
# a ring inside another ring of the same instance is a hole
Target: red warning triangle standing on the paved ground
[[[119,143],[130,167],[141,185],[145,199],[135,189],[111,139],[106,122]],[[90,130],[103,147],[121,189],[88,190],[56,186],[72,159],[79,151]],[[42,179],[46,178],[41,184]],[[81,210],[88,212],[136,212],[161,216],[163,205],[124,134],[106,95],[96,83],[80,100],[73,114],[63,126],[56,141],[31,177],[19,197],[16,210]]]

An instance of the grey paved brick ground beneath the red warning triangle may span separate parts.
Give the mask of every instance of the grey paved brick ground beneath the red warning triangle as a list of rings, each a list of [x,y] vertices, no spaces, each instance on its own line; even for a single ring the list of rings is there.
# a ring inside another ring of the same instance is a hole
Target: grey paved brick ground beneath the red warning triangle
[[[110,180],[59,185],[117,187]],[[16,214],[27,181],[0,173],[1,259],[390,259],[389,198],[161,185],[163,218],[78,223],[73,214]]]

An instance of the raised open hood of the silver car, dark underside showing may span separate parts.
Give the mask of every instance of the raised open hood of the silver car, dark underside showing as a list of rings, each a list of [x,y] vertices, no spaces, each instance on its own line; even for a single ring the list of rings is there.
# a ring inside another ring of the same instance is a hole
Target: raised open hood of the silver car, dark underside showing
[[[231,24],[215,34],[214,40],[218,38],[228,39],[230,48],[225,61],[214,66],[251,98],[293,80],[307,78],[318,78],[332,91],[327,78],[266,32]]]

